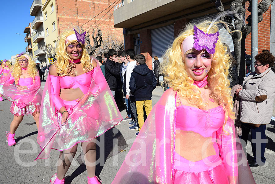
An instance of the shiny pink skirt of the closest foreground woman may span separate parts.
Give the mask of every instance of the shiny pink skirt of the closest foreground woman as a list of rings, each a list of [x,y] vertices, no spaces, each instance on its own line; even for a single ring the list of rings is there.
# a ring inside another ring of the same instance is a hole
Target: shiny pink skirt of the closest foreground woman
[[[229,184],[226,171],[220,157],[212,156],[209,162],[205,159],[192,162],[175,155],[175,184]],[[213,164],[214,163],[214,164]]]

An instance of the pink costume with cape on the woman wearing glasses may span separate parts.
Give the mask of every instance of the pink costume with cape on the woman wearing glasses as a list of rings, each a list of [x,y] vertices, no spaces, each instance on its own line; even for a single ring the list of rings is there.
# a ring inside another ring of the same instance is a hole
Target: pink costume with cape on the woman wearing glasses
[[[10,112],[14,116],[24,116],[25,114],[33,114],[40,112],[40,105],[43,90],[40,84],[39,74],[35,79],[19,78],[17,86],[27,86],[28,89],[19,90],[14,84],[14,78],[9,74],[0,79],[0,93],[12,102]],[[37,71],[38,73],[38,71]]]

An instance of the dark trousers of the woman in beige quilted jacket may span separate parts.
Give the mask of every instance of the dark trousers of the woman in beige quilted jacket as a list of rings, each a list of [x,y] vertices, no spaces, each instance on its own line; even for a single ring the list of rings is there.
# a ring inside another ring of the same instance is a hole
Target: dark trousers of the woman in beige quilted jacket
[[[260,127],[254,127],[248,123],[242,123],[241,125],[241,138],[246,142],[246,145],[248,140],[248,134],[249,132],[251,132],[251,147],[254,156],[253,161],[257,162],[258,165],[263,165],[266,162],[266,158],[264,156],[267,143],[266,125],[260,125]]]

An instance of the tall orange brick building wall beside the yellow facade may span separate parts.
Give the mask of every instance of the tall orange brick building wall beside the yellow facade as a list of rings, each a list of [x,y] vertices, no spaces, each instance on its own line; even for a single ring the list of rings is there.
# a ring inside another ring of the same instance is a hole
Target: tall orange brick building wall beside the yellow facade
[[[77,26],[80,27],[84,24],[82,26],[83,30],[89,31],[90,35],[92,34],[93,27],[95,29],[99,27],[101,28],[103,39],[106,38],[108,35],[113,35],[115,38],[123,40],[123,28],[114,27],[114,17],[113,17],[113,11],[114,11],[113,8],[115,5],[117,5],[121,1],[116,2],[112,6],[110,5],[116,0],[96,0],[96,1],[95,0],[69,0],[69,1],[55,0],[55,1],[56,1],[56,10],[57,10],[56,12],[57,12],[57,21],[58,21],[57,27],[60,30],[59,34],[62,33],[64,30],[71,29]],[[108,8],[108,6],[110,7]],[[98,16],[95,17],[96,15]]]

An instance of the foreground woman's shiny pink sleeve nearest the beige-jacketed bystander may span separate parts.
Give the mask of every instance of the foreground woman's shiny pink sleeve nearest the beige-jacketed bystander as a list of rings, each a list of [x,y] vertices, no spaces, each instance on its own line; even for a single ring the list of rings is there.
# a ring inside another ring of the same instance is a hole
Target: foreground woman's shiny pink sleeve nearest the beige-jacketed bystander
[[[222,161],[230,183],[238,176],[237,147],[234,121],[228,119],[224,127],[217,131],[217,143],[219,146]]]

